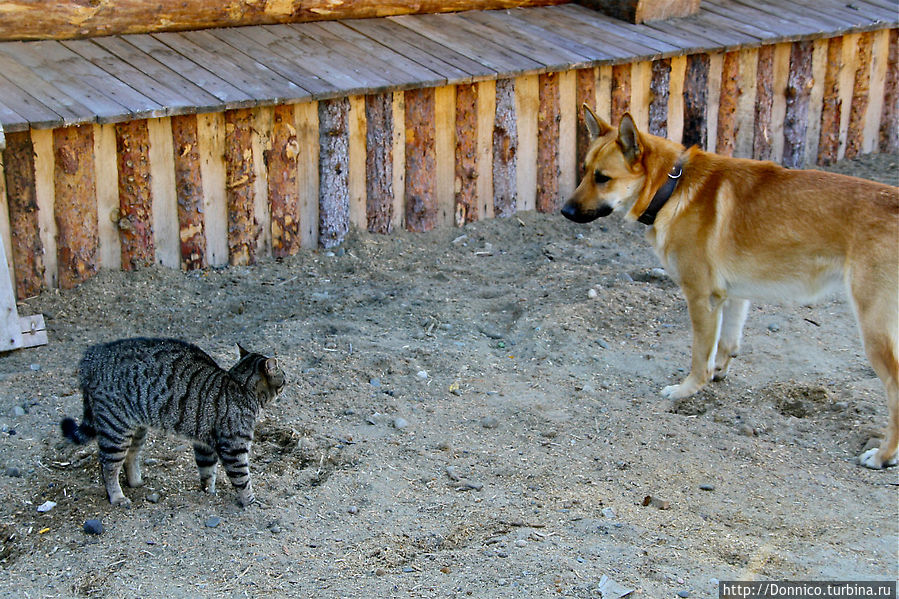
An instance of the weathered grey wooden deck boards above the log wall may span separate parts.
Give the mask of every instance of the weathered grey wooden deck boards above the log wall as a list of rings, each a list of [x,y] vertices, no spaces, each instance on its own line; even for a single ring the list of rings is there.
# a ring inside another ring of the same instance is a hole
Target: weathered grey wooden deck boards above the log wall
[[[631,25],[578,5],[0,43],[6,133],[460,85],[817,39],[894,0],[703,0]]]

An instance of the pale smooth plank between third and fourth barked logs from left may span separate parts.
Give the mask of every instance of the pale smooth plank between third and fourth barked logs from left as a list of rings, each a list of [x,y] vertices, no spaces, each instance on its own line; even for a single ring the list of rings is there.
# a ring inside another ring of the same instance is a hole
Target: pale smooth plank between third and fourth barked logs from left
[[[172,146],[171,119],[149,119],[150,134],[150,196],[153,198],[153,245],[156,263],[169,268],[181,266],[180,240],[178,239],[178,199],[175,191],[175,151]],[[98,160],[99,160],[99,154]],[[99,172],[99,171],[98,171]],[[99,206],[100,182],[97,181]],[[103,222],[103,212],[99,214]],[[102,247],[102,237],[101,237]],[[102,264],[102,262],[101,262]]]

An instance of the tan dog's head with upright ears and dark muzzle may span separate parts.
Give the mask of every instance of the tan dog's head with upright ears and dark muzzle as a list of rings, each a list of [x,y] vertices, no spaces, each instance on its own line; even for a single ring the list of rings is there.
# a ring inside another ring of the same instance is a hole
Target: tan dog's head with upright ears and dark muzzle
[[[615,210],[630,210],[646,187],[644,136],[630,114],[615,129],[584,104],[584,120],[592,139],[584,160],[584,178],[562,207],[562,215],[588,223]]]

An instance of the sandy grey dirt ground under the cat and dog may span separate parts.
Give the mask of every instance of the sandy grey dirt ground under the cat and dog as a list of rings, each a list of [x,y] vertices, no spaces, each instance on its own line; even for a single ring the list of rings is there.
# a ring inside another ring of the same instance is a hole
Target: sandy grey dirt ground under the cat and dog
[[[896,156],[836,169],[897,183]],[[667,402],[686,306],[617,217],[354,232],[252,268],[103,272],[20,312],[50,343],[0,356],[3,597],[598,598],[607,577],[654,599],[899,574],[899,473],[854,462],[886,405],[845,299],[754,305],[729,378]],[[161,434],[133,507],[107,503],[96,446],[59,421],[84,349],[136,335],[283,363],[258,503],[221,470],[201,493]]]

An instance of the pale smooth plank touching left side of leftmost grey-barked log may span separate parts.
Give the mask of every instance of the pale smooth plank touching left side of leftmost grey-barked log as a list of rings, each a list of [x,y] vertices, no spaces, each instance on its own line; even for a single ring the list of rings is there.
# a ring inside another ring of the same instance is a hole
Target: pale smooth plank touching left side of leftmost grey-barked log
[[[303,102],[294,108],[294,126],[299,143],[297,210],[300,217],[300,247],[304,248],[318,247],[319,169],[321,164],[318,114],[318,102]]]

